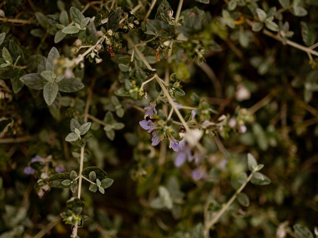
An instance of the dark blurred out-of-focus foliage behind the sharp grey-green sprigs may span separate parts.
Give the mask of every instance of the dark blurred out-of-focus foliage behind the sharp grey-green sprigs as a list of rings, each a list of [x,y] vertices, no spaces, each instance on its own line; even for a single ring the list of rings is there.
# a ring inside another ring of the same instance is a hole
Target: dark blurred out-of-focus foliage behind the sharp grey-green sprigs
[[[146,2],[136,12],[141,19],[149,8],[150,2]],[[301,2],[308,13],[305,16],[295,16],[282,8],[283,0],[246,2],[258,4],[262,9],[276,6],[283,13],[284,22],[289,23],[288,30],[294,32],[289,38],[293,42],[305,47],[317,42],[316,0]],[[71,5],[84,6],[88,1],[64,3],[68,11]],[[125,7],[132,9],[137,3],[118,1],[125,11]],[[172,9],[178,6],[176,0],[169,3]],[[208,48],[204,54],[206,61],[201,64],[185,61],[182,55],[177,56],[178,47],[175,47],[176,57],[171,64],[171,72],[177,73],[186,93],[178,103],[191,105],[190,95],[196,93],[217,111],[211,114],[211,121],[223,114],[238,118],[241,109],[251,114],[245,133],[230,131],[224,138],[203,138],[202,145],[207,149],[201,165],[207,172],[205,179],[192,178],[195,167],[190,163],[176,168],[176,153],[172,150],[166,151],[164,164],[158,161],[159,147],[150,145],[150,136],[138,124],[144,114],[135,109],[136,105],[147,106],[145,102],[149,100],[120,98],[123,116],[110,105],[111,96],[120,83],[117,63],[109,53],[99,53],[103,60],[99,64],[85,64],[82,82],[86,88],[95,82],[90,114],[103,118],[107,111],[113,111],[115,119],[125,127],[116,130],[111,141],[98,124],[92,124],[93,138],[87,142],[85,165],[103,168],[114,183],[103,195],[92,194],[83,182],[84,214],[89,218],[80,228],[79,237],[200,237],[195,229],[204,221],[206,203],[210,211],[217,211],[232,196],[235,189],[231,181],[247,170],[248,152],[265,165],[262,173],[271,183],[247,184],[244,193],[248,195],[249,204],[244,198],[240,203],[234,202],[210,236],[295,237],[294,224],[306,225],[314,231],[318,221],[317,60],[299,49],[284,46],[262,31],[253,32],[246,23],[246,19],[253,20],[248,7],[238,5],[230,11],[228,4],[228,0],[210,0],[209,4],[184,1],[182,9],[197,7],[206,12],[202,21],[194,19],[189,23],[193,24],[191,30],[196,29],[192,37],[201,39],[202,45]],[[61,54],[70,54],[69,46],[73,45],[74,38],[67,36],[54,43],[55,32],[43,30],[34,17],[38,11],[45,15],[58,12],[56,1],[5,0],[0,5],[5,13],[0,17],[0,31],[19,45],[25,59],[30,60],[35,54],[46,56],[53,46]],[[95,8],[89,7],[85,16],[94,16]],[[224,9],[232,14],[233,29],[224,24]],[[153,19],[155,14],[156,10],[152,11],[149,18]],[[193,12],[182,14],[187,16]],[[5,20],[13,18],[31,20],[28,24]],[[183,47],[191,54],[191,43],[180,44],[188,44]],[[164,73],[164,64],[161,55],[155,65],[158,74]],[[58,166],[66,171],[78,169],[79,157],[71,153],[64,138],[69,133],[68,121],[74,114],[83,113],[87,90],[58,96],[61,106],[48,107],[41,92],[24,86],[15,94],[10,80],[0,78],[0,237],[69,237],[70,225],[65,225],[59,215],[72,196],[69,189],[52,188],[39,197],[33,189],[36,179],[25,175],[23,170],[36,155],[51,156],[48,167],[52,171]],[[155,85],[148,86],[147,93],[148,98],[154,98]],[[168,194],[168,198],[164,194]],[[171,200],[168,205],[154,202],[161,195],[162,199]],[[48,233],[44,235],[41,231]]]

